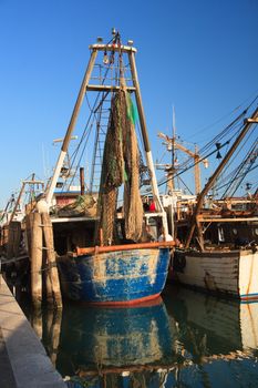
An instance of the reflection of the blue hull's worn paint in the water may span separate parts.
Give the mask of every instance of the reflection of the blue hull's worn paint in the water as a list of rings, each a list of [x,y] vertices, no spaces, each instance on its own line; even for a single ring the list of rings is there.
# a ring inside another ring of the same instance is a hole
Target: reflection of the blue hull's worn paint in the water
[[[68,308],[65,308],[68,307]],[[64,306],[59,359],[65,367],[96,371],[176,361],[166,306],[89,307]],[[64,370],[61,372],[64,372]],[[70,370],[65,370],[65,374]]]

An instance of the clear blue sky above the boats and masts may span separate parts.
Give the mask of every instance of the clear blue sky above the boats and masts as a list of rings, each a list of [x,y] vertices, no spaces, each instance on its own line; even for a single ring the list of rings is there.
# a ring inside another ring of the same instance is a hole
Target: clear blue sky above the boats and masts
[[[213,134],[202,129],[257,93],[257,0],[0,0],[0,207],[55,161],[97,35],[115,27],[134,40],[157,157],[173,104],[180,136],[202,143]]]

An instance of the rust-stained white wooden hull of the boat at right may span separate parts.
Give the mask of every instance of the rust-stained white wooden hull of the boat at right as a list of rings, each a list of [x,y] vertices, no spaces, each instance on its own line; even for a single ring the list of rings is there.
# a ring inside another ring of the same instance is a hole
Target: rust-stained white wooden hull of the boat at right
[[[176,252],[173,279],[211,294],[258,299],[258,252]]]

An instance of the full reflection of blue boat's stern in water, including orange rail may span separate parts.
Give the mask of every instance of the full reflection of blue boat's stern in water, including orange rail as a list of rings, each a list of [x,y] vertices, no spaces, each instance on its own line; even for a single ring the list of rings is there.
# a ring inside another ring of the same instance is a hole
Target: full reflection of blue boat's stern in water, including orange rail
[[[162,298],[137,307],[69,306],[64,310],[56,367],[63,376],[72,376],[73,382],[91,381],[97,387],[100,376],[110,386],[133,379],[144,387],[151,380],[158,382],[159,369],[175,363],[173,331]],[[70,381],[69,386],[74,385]]]

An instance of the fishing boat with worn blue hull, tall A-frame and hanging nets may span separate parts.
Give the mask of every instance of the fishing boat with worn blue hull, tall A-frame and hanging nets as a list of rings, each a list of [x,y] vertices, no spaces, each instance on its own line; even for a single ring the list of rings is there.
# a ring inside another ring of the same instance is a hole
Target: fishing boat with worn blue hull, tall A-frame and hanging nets
[[[168,241],[135,65],[136,49],[132,44],[132,41],[122,44],[120,33],[113,31],[110,43],[103,44],[99,38],[97,43],[90,45],[89,65],[60,156],[45,196],[38,203],[39,212],[48,208],[51,214],[62,295],[70,299],[122,305],[146,302],[162,293],[167,277],[174,242]],[[83,188],[81,174],[82,195],[73,204],[56,210],[52,206],[54,191],[64,173],[65,155],[83,99],[90,92],[97,95],[92,109],[97,120],[96,141],[90,144],[91,187]],[[105,125],[101,121],[103,112],[109,113]],[[140,192],[137,122],[154,203],[153,208],[145,211]],[[96,157],[102,167],[97,190]],[[122,205],[117,206],[121,197]]]

